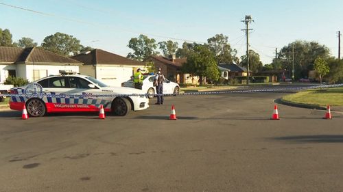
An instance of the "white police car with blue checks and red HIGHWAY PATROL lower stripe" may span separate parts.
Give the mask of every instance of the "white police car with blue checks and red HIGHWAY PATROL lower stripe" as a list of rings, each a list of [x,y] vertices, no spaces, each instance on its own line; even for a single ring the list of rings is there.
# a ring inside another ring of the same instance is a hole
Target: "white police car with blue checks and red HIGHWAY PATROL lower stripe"
[[[21,111],[25,105],[32,117],[45,113],[104,111],[126,115],[149,107],[145,92],[128,87],[108,87],[93,77],[60,71],[23,87],[10,90],[10,108]]]

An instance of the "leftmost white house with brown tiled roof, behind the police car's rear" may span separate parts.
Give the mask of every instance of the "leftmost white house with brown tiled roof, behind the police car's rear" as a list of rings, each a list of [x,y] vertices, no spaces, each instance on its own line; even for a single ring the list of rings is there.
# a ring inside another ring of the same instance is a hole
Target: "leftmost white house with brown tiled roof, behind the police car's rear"
[[[9,76],[36,81],[59,70],[79,72],[80,61],[46,51],[39,47],[17,48],[0,46],[0,83]]]

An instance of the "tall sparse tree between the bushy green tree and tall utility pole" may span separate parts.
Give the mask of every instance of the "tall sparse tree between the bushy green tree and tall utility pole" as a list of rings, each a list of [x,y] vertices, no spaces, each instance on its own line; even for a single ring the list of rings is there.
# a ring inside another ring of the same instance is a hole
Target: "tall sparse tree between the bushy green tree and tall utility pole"
[[[237,50],[231,49],[228,43],[228,37],[221,34],[216,34],[214,37],[207,40],[209,47],[213,54],[215,55],[215,60],[217,63],[229,64],[234,60],[237,55]]]

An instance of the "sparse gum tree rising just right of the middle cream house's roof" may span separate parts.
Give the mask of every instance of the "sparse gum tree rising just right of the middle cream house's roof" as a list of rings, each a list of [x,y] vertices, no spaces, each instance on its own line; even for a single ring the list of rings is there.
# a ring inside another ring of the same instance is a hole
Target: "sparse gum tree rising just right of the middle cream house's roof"
[[[133,53],[128,53],[127,57],[137,61],[144,61],[151,55],[158,55],[156,40],[147,38],[142,34],[139,38],[131,38],[128,47],[133,50]]]

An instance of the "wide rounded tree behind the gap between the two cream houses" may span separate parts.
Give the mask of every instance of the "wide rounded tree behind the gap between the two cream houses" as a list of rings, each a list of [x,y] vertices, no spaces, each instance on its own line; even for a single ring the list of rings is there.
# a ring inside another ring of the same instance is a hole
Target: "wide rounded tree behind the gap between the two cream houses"
[[[71,53],[77,55],[82,49],[80,40],[64,33],[57,32],[47,36],[42,43],[43,49],[69,57]]]

